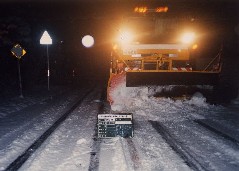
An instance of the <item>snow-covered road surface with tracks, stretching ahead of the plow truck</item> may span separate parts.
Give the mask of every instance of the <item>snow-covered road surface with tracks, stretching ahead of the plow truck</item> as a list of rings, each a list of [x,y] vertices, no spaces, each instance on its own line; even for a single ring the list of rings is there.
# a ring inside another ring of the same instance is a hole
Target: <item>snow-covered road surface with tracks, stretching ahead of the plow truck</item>
[[[1,102],[0,170],[84,92],[84,88],[63,91],[58,87],[52,98],[41,93]],[[172,100],[147,96],[145,89],[127,90],[127,97],[121,94],[124,100],[112,108],[133,113],[134,137],[99,139],[99,108],[103,104],[101,112],[111,112],[101,100],[102,92],[95,88],[19,170],[238,170],[237,100],[225,107],[207,104],[200,94]]]

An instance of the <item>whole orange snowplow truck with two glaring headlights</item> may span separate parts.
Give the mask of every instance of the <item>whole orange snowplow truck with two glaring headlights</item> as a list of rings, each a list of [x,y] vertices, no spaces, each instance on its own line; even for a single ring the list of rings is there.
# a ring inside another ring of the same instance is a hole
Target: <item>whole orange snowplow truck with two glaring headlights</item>
[[[214,37],[220,36],[203,22],[170,17],[167,10],[124,17],[115,29],[107,90],[111,104],[122,84],[155,89],[155,96],[190,97],[207,94],[219,83],[222,46]]]

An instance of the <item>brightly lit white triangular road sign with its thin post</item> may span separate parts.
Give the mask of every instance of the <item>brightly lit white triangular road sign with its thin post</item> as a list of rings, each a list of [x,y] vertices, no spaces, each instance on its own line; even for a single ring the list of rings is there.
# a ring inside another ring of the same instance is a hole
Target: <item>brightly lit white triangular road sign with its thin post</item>
[[[40,39],[41,45],[46,45],[46,54],[47,54],[47,88],[50,90],[50,64],[49,64],[49,54],[48,54],[48,45],[52,44],[52,39],[47,31],[44,31],[44,33],[41,36]]]

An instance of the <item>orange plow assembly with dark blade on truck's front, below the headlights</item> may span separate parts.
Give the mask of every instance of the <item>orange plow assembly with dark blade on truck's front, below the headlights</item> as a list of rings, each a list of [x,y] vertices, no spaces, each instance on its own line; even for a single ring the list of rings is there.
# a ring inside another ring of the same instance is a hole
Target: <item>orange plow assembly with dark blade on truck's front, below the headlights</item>
[[[108,101],[113,104],[114,90],[126,87],[168,87],[162,96],[185,96],[196,91],[213,89],[221,71],[221,53],[205,68],[196,70],[186,44],[125,44],[115,46],[111,53]],[[203,90],[202,90],[203,89]],[[162,89],[161,89],[162,90]]]

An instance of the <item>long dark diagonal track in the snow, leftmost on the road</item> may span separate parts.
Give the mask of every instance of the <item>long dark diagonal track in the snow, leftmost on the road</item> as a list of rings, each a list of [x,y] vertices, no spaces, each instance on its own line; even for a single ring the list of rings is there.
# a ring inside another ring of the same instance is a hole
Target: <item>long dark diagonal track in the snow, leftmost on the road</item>
[[[36,139],[32,145],[30,145],[20,156],[18,156],[11,164],[7,166],[5,171],[18,170],[27,160],[31,157],[36,150],[47,140],[47,138],[71,115],[71,113],[83,102],[84,99],[92,92],[94,87],[86,90],[77,101],[74,103],[62,116],[54,122],[38,139]]]

